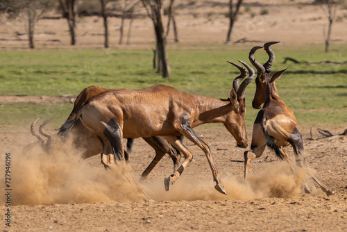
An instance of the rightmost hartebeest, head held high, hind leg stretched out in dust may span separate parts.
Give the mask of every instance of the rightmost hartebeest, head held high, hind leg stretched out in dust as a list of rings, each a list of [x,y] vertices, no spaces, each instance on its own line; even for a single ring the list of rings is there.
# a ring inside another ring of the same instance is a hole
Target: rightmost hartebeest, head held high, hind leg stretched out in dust
[[[257,77],[255,78],[256,90],[252,105],[253,108],[260,108],[264,103],[264,106],[257,114],[253,125],[251,150],[244,152],[245,178],[248,174],[251,160],[262,156],[266,145],[271,147],[276,152],[276,155],[283,160],[288,159],[288,155],[282,150],[282,147],[287,147],[291,144],[297,157],[298,165],[301,167],[306,166],[305,160],[301,156],[303,140],[296,117],[293,111],[280,99],[276,89],[275,81],[277,78],[280,78],[286,69],[270,74],[271,65],[275,60],[275,53],[270,46],[276,43],[278,42],[264,44],[264,49],[269,55],[269,60],[264,65],[260,65],[254,58],[255,51],[262,47],[253,47],[249,53],[249,60],[257,69]],[[310,173],[310,176],[327,195],[333,194],[314,174]]]

